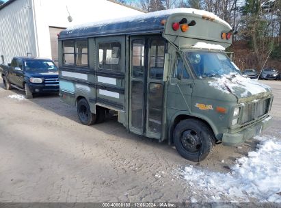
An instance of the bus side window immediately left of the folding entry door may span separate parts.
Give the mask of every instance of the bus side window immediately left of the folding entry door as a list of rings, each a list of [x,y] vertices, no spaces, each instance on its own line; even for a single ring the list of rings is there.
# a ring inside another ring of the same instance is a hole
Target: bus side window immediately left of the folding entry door
[[[98,68],[121,70],[120,42],[102,42],[98,44]]]

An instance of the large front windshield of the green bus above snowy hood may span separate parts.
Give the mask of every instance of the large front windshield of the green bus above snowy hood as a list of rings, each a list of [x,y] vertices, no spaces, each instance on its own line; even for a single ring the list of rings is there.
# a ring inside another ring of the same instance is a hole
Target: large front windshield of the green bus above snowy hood
[[[219,77],[230,73],[241,74],[239,68],[230,61],[226,53],[186,51],[185,58],[199,78]]]

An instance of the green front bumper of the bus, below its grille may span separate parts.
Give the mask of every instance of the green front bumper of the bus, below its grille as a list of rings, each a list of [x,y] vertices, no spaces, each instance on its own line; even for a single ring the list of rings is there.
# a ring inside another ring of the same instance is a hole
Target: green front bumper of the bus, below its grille
[[[254,136],[259,135],[261,131],[267,129],[271,125],[272,117],[267,116],[263,120],[260,120],[256,124],[247,127],[239,131],[238,133],[224,133],[222,136],[222,144],[226,146],[236,146],[245,140],[254,138]]]

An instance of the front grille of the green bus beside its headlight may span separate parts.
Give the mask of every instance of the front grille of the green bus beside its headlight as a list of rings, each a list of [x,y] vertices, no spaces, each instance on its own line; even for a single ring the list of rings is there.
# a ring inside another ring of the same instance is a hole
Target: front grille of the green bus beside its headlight
[[[242,124],[256,120],[260,116],[267,114],[269,110],[270,98],[265,100],[259,100],[254,103],[245,104],[243,107]]]

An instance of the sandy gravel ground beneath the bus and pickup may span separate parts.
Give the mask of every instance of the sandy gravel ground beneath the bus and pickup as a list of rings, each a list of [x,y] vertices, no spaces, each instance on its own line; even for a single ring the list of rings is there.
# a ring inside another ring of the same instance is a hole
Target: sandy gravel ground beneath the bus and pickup
[[[281,81],[263,83],[275,95],[274,123],[263,135],[278,137]],[[189,202],[192,187],[179,170],[193,165],[228,172],[256,146],[217,145],[196,164],[165,142],[128,133],[113,115],[87,127],[59,96],[16,99],[21,95],[0,88],[0,202]]]

